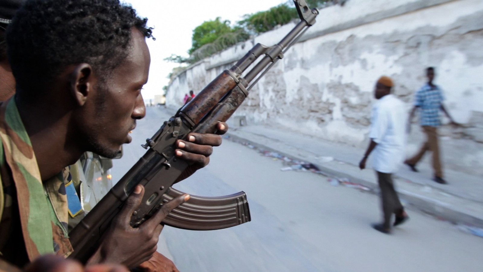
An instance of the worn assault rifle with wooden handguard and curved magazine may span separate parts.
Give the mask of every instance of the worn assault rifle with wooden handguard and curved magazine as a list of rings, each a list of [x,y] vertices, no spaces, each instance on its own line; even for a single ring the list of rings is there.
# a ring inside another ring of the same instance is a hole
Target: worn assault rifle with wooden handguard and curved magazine
[[[142,158],[114,185],[85,218],[69,233],[74,248],[71,257],[87,259],[98,248],[102,235],[114,216],[138,184],[145,193],[138,209],[131,216],[130,225],[138,227],[150,218],[164,203],[184,194],[171,185],[188,164],[176,158],[174,143],[185,139],[191,132],[215,133],[218,121],[227,121],[256,84],[284,52],[315,23],[317,9],[309,9],[305,0],[294,0],[300,22],[276,45],[255,45],[233,67],[217,76],[175,116],[165,121],[156,134],[143,145],[148,149]],[[265,55],[255,66],[241,76],[258,57]],[[249,86],[249,83],[262,73]],[[192,230],[211,230],[233,227],[250,221],[250,211],[244,192],[229,196],[191,196],[162,222],[171,227]]]

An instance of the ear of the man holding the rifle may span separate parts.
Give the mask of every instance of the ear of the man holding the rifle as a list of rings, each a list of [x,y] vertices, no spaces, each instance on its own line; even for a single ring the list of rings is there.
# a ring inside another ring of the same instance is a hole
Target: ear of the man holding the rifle
[[[92,67],[87,63],[77,65],[71,74],[71,94],[77,105],[84,106],[89,94],[92,94],[94,82]]]

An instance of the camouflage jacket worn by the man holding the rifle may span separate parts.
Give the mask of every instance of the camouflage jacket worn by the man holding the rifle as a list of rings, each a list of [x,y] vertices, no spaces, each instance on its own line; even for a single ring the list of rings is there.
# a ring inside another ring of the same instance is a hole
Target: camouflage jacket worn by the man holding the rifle
[[[69,256],[69,169],[41,180],[14,97],[0,103],[0,141],[0,257],[22,267],[43,254]]]

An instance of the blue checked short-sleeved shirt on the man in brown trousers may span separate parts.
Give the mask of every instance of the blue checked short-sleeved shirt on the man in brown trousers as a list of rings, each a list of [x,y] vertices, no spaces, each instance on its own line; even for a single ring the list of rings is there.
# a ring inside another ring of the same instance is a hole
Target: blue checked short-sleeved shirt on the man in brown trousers
[[[440,126],[440,108],[444,97],[440,87],[426,84],[416,92],[414,106],[419,106],[422,126]]]

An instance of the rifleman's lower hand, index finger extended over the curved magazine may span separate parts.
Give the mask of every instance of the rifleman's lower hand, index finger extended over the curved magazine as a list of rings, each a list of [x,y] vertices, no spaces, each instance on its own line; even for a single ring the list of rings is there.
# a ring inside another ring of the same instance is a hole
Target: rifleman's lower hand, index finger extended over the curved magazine
[[[185,203],[189,195],[171,199],[140,227],[131,227],[131,215],[141,204],[143,195],[144,187],[137,185],[121,212],[113,219],[110,229],[87,264],[121,263],[128,268],[134,268],[153,256],[157,249],[159,234],[163,229],[161,221],[171,210]]]

